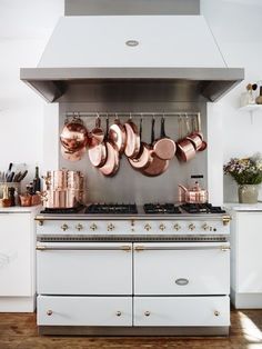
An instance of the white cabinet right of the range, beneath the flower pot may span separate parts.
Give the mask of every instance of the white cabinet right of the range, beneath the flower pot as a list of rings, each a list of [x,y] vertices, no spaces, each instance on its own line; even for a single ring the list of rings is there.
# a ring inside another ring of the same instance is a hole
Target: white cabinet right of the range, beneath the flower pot
[[[232,211],[231,296],[235,308],[262,308],[262,211]]]

